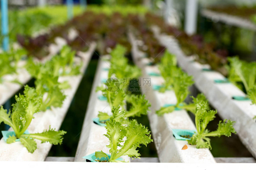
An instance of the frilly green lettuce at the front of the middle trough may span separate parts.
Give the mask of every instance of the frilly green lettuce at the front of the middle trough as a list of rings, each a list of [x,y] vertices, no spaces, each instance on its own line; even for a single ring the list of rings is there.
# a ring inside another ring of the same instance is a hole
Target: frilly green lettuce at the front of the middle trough
[[[140,154],[136,148],[141,144],[147,146],[153,141],[150,131],[145,126],[138,124],[136,120],[131,120],[124,125],[125,111],[121,111],[120,107],[113,107],[112,114],[105,126],[107,129],[105,136],[110,142],[107,147],[110,148],[111,156],[108,158],[106,153],[100,151],[95,152],[96,158],[108,158],[107,162],[124,162],[116,160],[123,155],[139,158]]]

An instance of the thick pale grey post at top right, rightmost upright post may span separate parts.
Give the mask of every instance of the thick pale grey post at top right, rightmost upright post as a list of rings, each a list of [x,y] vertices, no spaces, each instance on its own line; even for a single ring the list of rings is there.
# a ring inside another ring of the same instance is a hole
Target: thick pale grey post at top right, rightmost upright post
[[[187,0],[185,11],[185,32],[188,35],[196,33],[198,1]]]

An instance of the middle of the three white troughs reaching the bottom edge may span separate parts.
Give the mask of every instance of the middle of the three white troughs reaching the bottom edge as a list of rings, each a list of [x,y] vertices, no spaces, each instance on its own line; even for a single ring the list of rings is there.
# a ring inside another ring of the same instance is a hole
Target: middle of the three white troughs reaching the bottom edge
[[[98,99],[99,95],[102,95],[101,91],[96,92],[96,87],[104,85],[102,79],[108,78],[108,71],[103,70],[105,68],[110,68],[110,63],[107,61],[107,56],[101,57],[98,62],[97,71],[93,80],[93,87],[90,93],[90,99],[88,102],[88,108],[86,110],[86,115],[84,123],[82,126],[82,131],[77,147],[77,152],[75,155],[75,162],[85,162],[83,156],[90,155],[95,151],[103,151],[109,154],[109,148],[106,147],[109,144],[109,140],[104,134],[107,130],[104,126],[97,125],[93,122],[93,118],[96,118],[101,112],[107,112],[111,114],[111,108],[107,101],[101,101]],[[125,161],[130,161],[128,156],[121,157]]]

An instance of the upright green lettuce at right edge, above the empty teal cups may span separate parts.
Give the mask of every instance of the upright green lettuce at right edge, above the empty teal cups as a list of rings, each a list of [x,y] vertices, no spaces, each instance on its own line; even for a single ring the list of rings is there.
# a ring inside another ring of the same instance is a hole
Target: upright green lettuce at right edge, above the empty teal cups
[[[248,91],[255,86],[256,63],[241,61],[238,57],[230,57],[228,61],[230,62],[228,79],[240,89],[242,89],[242,87],[238,83],[242,82],[246,93],[248,93]]]

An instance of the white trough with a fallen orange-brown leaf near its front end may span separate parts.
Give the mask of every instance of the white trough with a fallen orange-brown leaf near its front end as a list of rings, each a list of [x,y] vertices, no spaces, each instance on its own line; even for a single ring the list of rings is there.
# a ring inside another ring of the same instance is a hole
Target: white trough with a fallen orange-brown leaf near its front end
[[[141,53],[136,46],[135,38],[129,34],[132,44],[132,57],[137,66],[142,69],[143,77],[151,79],[151,85],[143,86],[149,88],[145,92],[146,98],[151,103],[151,112],[148,113],[150,126],[152,129],[153,141],[155,143],[160,162],[180,162],[180,163],[216,163],[209,149],[196,149],[195,145],[188,145],[187,141],[176,140],[172,129],[195,130],[191,118],[185,110],[174,111],[164,114],[162,117],[155,114],[164,104],[175,104],[177,102],[174,91],[160,93],[153,90],[153,85],[161,85],[164,82],[162,77],[149,76],[149,71],[158,70],[157,66],[146,66],[149,62],[147,58],[141,58]],[[159,72],[159,71],[158,71]],[[188,149],[182,150],[184,145]]]

